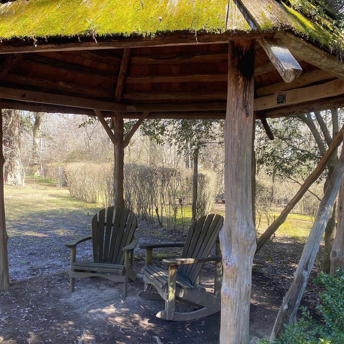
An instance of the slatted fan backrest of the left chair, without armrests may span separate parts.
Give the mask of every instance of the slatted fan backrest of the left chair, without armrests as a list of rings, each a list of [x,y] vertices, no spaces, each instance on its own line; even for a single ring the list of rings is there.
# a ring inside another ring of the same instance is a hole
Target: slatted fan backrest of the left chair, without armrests
[[[106,213],[106,218],[105,218]],[[92,219],[92,247],[95,263],[123,265],[123,247],[129,245],[135,235],[135,214],[122,206],[101,209]]]

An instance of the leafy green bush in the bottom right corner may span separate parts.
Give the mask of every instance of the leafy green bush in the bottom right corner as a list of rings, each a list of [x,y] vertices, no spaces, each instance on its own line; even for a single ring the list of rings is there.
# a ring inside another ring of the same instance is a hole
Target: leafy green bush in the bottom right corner
[[[314,282],[325,287],[319,295],[322,304],[316,306],[322,315],[321,322],[312,319],[307,307],[301,307],[303,318],[286,325],[280,339],[272,342],[263,339],[259,344],[343,344],[344,343],[344,271],[336,276],[320,272]]]

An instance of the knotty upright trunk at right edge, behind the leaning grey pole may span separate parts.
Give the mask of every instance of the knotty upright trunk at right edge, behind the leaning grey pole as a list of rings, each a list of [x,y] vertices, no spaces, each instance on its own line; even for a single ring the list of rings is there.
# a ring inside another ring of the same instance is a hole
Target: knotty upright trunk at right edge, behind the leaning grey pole
[[[344,181],[339,189],[337,208],[337,231],[331,250],[331,274],[334,275],[337,265],[344,270]]]

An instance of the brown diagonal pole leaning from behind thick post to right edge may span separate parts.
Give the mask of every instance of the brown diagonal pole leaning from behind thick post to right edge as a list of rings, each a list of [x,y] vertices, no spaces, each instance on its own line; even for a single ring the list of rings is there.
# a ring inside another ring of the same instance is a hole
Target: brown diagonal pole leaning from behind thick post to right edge
[[[343,141],[344,126],[337,134],[337,136],[331,142],[329,149],[327,149],[324,156],[319,161],[314,171],[308,176],[303,185],[300,187],[297,194],[290,200],[286,207],[282,210],[281,214],[277,217],[275,221],[265,230],[265,232],[259,237],[257,241],[256,253],[261,249],[261,247],[270,239],[271,235],[276,232],[276,230],[281,226],[281,224],[286,221],[288,214],[292,211],[294,206],[301,200],[302,196],[307,192],[309,187],[319,178],[321,173],[325,170],[327,163],[332,158],[333,152],[338,148],[338,146]]]

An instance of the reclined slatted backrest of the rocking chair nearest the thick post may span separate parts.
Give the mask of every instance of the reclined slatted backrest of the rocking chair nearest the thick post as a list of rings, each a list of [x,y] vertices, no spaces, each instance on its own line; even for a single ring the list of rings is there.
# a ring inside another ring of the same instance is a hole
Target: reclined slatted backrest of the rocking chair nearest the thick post
[[[208,257],[223,226],[223,216],[210,214],[195,221],[187,233],[182,258]],[[185,264],[178,272],[193,284],[202,269],[203,263]]]

